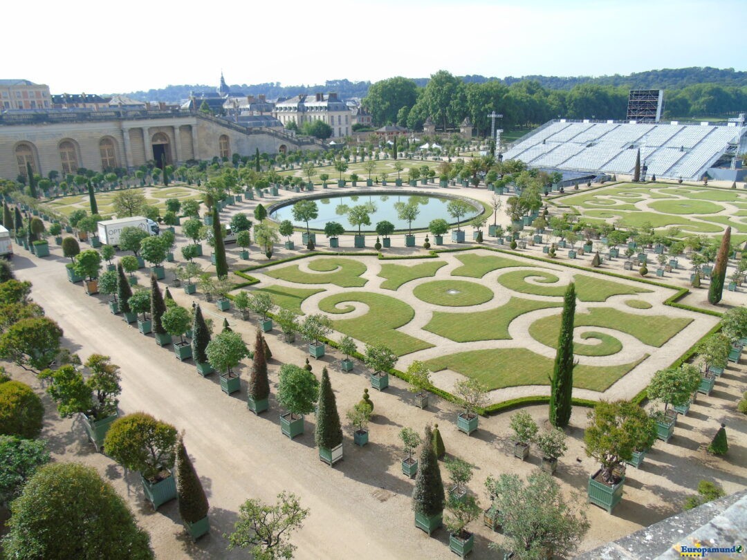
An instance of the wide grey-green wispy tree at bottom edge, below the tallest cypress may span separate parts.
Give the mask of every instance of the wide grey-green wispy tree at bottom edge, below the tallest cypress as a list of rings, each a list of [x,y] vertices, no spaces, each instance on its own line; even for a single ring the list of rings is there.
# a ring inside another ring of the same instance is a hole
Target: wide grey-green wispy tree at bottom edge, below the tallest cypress
[[[526,485],[515,474],[502,474],[494,496],[503,535],[520,559],[573,556],[589,530],[586,514],[578,507],[583,500],[574,497],[566,503],[548,473],[534,471]]]

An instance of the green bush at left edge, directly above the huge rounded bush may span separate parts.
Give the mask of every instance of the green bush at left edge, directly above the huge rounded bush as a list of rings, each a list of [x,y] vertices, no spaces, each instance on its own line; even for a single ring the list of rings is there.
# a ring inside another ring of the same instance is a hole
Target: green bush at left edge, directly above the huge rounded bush
[[[19,497],[26,481],[39,467],[49,463],[44,440],[27,440],[0,435],[0,505]]]

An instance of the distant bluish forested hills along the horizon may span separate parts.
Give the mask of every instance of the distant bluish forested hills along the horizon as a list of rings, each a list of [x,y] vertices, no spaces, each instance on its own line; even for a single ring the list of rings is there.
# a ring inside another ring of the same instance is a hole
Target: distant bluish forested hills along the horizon
[[[483,84],[486,81],[497,80],[498,78],[486,78],[482,75],[462,76],[462,80],[468,83]],[[676,90],[692,84],[717,84],[721,86],[747,86],[747,72],[737,72],[732,68],[676,68],[648,70],[647,72],[636,72],[627,76],[611,75],[599,76],[575,76],[564,78],[562,76],[542,76],[527,75],[521,78],[508,76],[501,80],[503,84],[511,85],[518,81],[531,80],[539,82],[542,87],[548,90],[570,90],[580,84],[595,84],[601,86],[628,87],[631,89],[665,89]],[[414,78],[418,87],[424,87],[428,83],[428,78]],[[142,101],[165,101],[178,102],[187,99],[190,92],[214,91],[217,84],[214,85],[176,85],[167,86],[159,90],[135,91],[125,93],[126,96]],[[349,80],[329,80],[324,84],[317,85],[297,85],[281,86],[280,82],[267,82],[265,84],[234,84],[232,91],[246,93],[247,95],[264,94],[267,99],[277,99],[278,97],[291,97],[299,93],[317,93],[317,92],[336,92],[343,99],[351,97],[365,97],[368,94],[370,81],[349,81]]]

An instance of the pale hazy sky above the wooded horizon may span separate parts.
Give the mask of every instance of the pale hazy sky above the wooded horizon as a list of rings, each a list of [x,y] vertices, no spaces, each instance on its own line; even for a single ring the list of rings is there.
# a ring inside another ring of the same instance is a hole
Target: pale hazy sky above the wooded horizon
[[[394,75],[747,69],[747,0],[282,0],[3,7],[0,78],[52,93]],[[29,19],[31,16],[31,19]],[[13,22],[12,25],[10,22]]]

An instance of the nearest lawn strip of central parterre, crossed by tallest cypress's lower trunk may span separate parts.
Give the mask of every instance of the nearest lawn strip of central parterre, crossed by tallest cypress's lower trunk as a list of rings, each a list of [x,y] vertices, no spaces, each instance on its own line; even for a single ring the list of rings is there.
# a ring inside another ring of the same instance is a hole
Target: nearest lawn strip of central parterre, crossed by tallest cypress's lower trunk
[[[573,370],[573,385],[580,389],[605,391],[614,382],[640,364],[643,358],[619,366],[578,365]],[[525,348],[471,350],[433,358],[426,362],[433,371],[450,369],[477,379],[489,390],[521,385],[550,385],[553,360]]]

